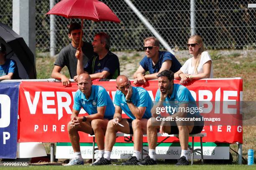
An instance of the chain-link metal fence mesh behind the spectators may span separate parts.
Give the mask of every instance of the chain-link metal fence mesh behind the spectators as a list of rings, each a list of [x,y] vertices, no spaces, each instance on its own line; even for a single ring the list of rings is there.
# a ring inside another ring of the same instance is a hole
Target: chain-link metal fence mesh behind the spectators
[[[84,22],[84,38],[92,42],[97,32],[111,36],[113,50],[142,50],[143,39],[152,33],[124,0],[101,0],[121,20],[120,24]],[[55,3],[59,0],[55,0]],[[190,36],[190,0],[131,0],[172,48],[185,48]],[[255,0],[195,0],[195,31],[207,48],[255,48],[256,9],[248,9]],[[50,49],[49,0],[36,0],[36,50]],[[12,26],[12,1],[0,0],[0,20]],[[80,22],[80,20],[75,20]],[[56,53],[68,45],[67,25],[55,17]]]

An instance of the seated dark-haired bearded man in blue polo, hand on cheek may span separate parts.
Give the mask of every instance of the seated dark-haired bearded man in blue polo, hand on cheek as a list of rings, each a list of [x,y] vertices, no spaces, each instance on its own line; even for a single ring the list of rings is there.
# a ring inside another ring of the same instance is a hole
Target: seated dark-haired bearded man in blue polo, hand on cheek
[[[138,165],[156,165],[156,143],[157,132],[168,134],[179,134],[179,142],[181,146],[181,156],[176,165],[189,165],[187,158],[187,148],[189,134],[200,133],[204,123],[202,121],[175,121],[175,117],[197,117],[202,120],[199,112],[190,113],[181,110],[169,112],[169,117],[173,117],[174,121],[160,122],[156,120],[159,114],[156,114],[156,109],[161,107],[177,107],[191,108],[197,107],[195,99],[192,97],[189,90],[183,85],[174,84],[174,73],[169,70],[164,70],[158,75],[159,89],[156,92],[155,105],[151,109],[152,118],[147,122],[147,139],[148,139],[148,156],[138,163]]]

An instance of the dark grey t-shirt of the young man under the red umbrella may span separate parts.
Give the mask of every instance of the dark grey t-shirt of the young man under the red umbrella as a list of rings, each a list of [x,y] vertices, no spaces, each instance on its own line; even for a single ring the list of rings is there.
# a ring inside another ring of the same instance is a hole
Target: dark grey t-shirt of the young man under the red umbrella
[[[67,47],[61,49],[56,61],[54,62],[54,65],[58,65],[60,67],[67,66],[71,78],[74,78],[74,76],[77,75],[76,51],[77,48],[73,47],[72,43],[70,43]],[[93,47],[89,42],[83,43],[82,51],[84,53],[83,65],[85,65],[87,61],[95,55],[95,53],[93,52]]]

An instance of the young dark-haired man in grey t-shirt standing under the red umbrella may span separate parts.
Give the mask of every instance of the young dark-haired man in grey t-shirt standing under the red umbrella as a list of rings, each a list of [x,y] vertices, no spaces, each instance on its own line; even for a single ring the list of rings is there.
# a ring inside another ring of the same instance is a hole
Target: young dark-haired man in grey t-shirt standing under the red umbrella
[[[71,23],[68,28],[68,36],[72,42],[61,49],[57,60],[54,63],[54,69],[51,73],[51,77],[61,80],[62,84],[66,87],[70,86],[69,79],[61,74],[61,69],[66,65],[69,70],[69,75],[72,79],[77,79],[77,58],[75,53],[79,46],[81,25],[78,23]],[[94,55],[92,45],[89,42],[82,42],[83,60],[84,64]]]

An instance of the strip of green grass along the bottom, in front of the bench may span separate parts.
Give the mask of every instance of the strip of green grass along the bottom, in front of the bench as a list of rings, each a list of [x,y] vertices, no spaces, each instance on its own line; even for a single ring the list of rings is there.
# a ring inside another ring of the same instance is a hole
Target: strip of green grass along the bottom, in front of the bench
[[[255,170],[256,165],[192,165],[192,166],[175,166],[175,165],[150,165],[150,166],[120,166],[120,165],[104,165],[104,166],[90,166],[89,164],[86,165],[78,165],[72,167],[65,167],[65,166],[29,166],[29,167],[4,167],[3,169],[8,170]]]

